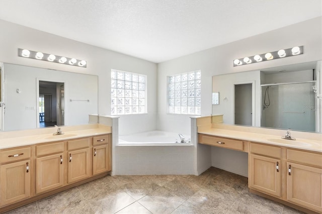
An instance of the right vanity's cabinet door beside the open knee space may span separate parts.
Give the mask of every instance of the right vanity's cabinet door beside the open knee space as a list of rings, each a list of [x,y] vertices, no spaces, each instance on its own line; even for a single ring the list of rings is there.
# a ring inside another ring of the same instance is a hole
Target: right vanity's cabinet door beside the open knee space
[[[274,196],[281,196],[281,160],[250,155],[249,187]]]

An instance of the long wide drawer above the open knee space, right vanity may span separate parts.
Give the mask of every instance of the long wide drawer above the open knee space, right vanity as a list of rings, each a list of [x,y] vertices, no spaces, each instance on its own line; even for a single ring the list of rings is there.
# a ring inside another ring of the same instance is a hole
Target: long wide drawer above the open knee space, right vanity
[[[211,135],[199,134],[199,143],[210,146],[217,146],[227,149],[244,151],[244,143],[240,140],[215,137]]]

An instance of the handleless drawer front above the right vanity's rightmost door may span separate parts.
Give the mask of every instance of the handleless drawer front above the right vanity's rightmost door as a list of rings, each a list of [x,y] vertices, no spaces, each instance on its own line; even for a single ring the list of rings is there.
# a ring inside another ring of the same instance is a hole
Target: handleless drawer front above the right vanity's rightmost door
[[[322,154],[287,149],[287,160],[322,168]]]

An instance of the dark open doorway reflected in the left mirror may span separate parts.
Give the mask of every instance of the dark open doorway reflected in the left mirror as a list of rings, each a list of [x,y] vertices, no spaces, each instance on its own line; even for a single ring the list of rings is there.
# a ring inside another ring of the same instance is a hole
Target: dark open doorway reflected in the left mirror
[[[64,125],[64,83],[39,80],[38,127]]]

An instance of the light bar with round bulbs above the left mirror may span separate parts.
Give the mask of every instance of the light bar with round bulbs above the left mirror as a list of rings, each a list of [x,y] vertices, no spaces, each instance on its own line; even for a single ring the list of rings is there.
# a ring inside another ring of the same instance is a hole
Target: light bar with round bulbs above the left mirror
[[[87,67],[87,62],[85,60],[79,60],[75,58],[68,58],[64,56],[57,56],[53,54],[46,54],[42,52],[30,51],[27,49],[18,48],[18,56],[31,58],[31,59],[38,59],[44,60],[49,62],[56,62],[66,65],[74,65],[78,67]]]

